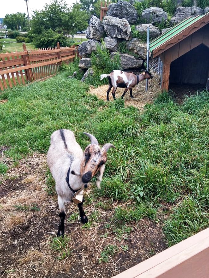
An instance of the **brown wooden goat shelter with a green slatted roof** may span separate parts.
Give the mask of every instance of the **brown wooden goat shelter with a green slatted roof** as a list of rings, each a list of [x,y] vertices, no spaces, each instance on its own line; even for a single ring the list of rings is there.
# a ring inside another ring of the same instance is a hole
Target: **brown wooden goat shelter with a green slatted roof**
[[[169,83],[209,89],[209,13],[189,17],[150,42],[163,63],[161,90]]]

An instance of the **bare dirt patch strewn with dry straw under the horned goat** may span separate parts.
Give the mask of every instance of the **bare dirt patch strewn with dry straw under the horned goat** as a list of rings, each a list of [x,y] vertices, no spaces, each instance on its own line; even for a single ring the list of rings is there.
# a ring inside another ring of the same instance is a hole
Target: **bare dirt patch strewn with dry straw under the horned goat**
[[[89,226],[80,223],[75,204],[67,205],[68,243],[64,251],[53,249],[59,211],[56,194],[48,195],[46,190],[45,155],[24,158],[16,167],[10,159],[1,159],[10,166],[0,176],[1,277],[112,277],[166,249],[163,219],[115,225],[114,210],[128,203],[103,197],[93,200],[95,185],[85,192]]]

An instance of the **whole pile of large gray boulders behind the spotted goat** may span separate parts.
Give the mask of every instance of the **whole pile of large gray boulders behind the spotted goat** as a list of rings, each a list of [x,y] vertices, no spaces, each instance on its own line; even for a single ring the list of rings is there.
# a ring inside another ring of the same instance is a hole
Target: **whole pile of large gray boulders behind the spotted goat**
[[[168,14],[161,8],[150,7],[144,10],[141,15],[141,21],[147,22],[147,24],[136,25],[139,19],[138,13],[132,5],[134,1],[141,2],[141,0],[130,0],[130,2],[118,1],[110,4],[107,15],[102,22],[96,16],[91,17],[86,30],[86,38],[89,40],[83,42],[78,48],[78,52],[82,56],[79,63],[81,69],[87,70],[91,67],[89,55],[96,51],[97,44],[101,45],[101,39],[104,40],[105,47],[110,51],[112,57],[116,55],[121,42],[124,42],[127,50],[134,54],[134,56],[119,54],[121,70],[140,69],[143,66],[147,58],[147,44],[140,39],[132,38],[131,25],[135,25],[135,29],[144,36],[147,36],[147,27],[149,26],[150,39],[152,40],[161,33],[155,24],[162,21],[166,22]],[[195,6],[182,7],[180,4],[181,1],[178,0],[179,6],[170,20],[170,25],[175,25],[185,18],[202,15],[209,11],[209,7],[203,10]],[[162,32],[165,32],[165,29]]]

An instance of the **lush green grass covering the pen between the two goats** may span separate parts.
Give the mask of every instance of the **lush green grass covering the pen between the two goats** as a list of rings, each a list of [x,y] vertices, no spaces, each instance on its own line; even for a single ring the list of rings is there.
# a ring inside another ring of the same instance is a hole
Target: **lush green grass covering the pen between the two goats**
[[[208,91],[182,105],[164,93],[140,113],[124,107],[123,100],[105,102],[88,94],[88,85],[67,78],[72,70],[0,94],[8,99],[0,105],[0,146],[10,147],[4,154],[19,160],[46,153],[50,135],[59,128],[74,131],[84,149],[89,140],[82,132],[92,133],[101,145],[116,147],[108,151],[101,190],[92,189],[92,200],[134,202],[115,209],[112,220],[118,228],[144,217],[158,222],[166,203],[172,208],[163,212],[168,246],[209,227]],[[53,195],[53,179],[49,172],[46,176],[46,190]],[[98,222],[97,215],[90,220]],[[108,256],[105,250],[101,262]]]

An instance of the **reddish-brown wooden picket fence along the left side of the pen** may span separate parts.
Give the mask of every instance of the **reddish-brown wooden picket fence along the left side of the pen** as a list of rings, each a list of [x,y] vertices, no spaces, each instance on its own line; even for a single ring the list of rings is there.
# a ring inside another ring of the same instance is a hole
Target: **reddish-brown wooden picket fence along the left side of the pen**
[[[0,90],[49,78],[59,71],[62,62],[71,63],[78,56],[75,45],[70,47],[0,54]]]

